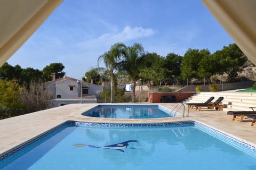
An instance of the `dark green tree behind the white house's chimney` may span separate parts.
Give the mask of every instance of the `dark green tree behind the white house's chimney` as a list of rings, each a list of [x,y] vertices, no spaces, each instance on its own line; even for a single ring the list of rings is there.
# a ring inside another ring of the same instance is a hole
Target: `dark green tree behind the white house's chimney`
[[[63,72],[63,69],[65,69],[65,66],[62,63],[51,63],[50,65],[46,65],[43,69],[42,78],[44,81],[51,81],[52,73],[55,73],[56,79],[63,78],[66,74]]]

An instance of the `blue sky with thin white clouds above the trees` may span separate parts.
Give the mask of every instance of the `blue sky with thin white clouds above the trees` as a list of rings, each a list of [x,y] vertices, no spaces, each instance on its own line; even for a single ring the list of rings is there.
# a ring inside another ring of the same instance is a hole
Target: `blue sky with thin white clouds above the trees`
[[[81,78],[117,42],[164,57],[234,43],[199,0],[65,0],[7,62],[39,70],[60,62]]]

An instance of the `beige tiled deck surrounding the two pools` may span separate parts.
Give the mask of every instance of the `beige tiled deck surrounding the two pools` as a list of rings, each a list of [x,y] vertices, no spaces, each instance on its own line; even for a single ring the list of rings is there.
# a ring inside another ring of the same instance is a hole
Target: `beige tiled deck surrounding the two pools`
[[[66,121],[100,123],[164,123],[197,121],[256,146],[256,125],[251,126],[250,120],[245,120],[242,123],[239,123],[239,121],[232,121],[232,116],[227,115],[227,111],[225,110],[215,111],[211,109],[202,109],[200,112],[190,110],[189,117],[185,118],[179,116],[147,120],[94,118],[81,115],[83,112],[97,105],[98,104],[72,104],[1,120],[0,154],[18,145],[21,145],[21,143],[26,142],[31,138],[37,137],[38,135]],[[143,105],[145,105],[145,103],[143,103]],[[159,105],[170,109],[175,106],[175,104],[167,103],[161,103]],[[185,114],[186,113],[187,111]]]

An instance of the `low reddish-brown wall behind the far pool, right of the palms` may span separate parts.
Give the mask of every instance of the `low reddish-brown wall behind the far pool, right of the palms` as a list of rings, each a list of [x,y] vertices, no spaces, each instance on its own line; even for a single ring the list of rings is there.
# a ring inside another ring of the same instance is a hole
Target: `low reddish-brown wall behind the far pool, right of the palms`
[[[175,96],[176,103],[180,103],[194,94],[196,92],[150,92],[148,93],[148,101],[149,103],[160,103],[162,96]]]

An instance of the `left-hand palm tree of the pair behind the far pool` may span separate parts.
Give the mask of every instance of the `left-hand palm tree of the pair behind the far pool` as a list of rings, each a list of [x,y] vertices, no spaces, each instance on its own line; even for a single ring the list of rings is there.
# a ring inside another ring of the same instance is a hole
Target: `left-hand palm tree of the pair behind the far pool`
[[[103,60],[107,69],[109,70],[110,79],[111,79],[110,80],[110,86],[111,86],[110,103],[114,103],[114,89],[115,89],[114,70],[116,69],[118,62],[121,59],[122,51],[124,48],[126,48],[126,46],[123,43],[116,43],[113,46],[111,46],[108,52],[105,52],[103,55],[101,55],[98,58],[98,65],[99,65],[99,60]]]

